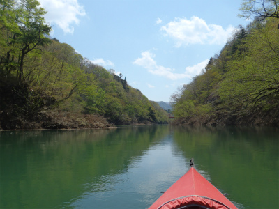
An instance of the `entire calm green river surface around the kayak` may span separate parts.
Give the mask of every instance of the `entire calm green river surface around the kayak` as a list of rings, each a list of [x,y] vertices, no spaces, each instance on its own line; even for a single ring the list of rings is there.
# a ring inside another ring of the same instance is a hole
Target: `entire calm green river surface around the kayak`
[[[0,132],[0,208],[148,208],[189,168],[238,208],[279,208],[279,130]]]

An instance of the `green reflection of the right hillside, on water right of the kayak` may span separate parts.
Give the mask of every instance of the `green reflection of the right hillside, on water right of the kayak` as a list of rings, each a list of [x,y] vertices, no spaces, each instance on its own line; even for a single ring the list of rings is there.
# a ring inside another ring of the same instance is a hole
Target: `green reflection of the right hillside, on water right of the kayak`
[[[174,141],[229,199],[249,208],[278,208],[278,136],[273,128],[188,127],[176,130]]]

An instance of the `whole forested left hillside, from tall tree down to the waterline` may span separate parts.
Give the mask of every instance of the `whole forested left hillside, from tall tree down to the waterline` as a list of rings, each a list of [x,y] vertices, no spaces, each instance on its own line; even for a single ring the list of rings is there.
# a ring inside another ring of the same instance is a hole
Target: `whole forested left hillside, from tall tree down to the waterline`
[[[47,38],[36,0],[0,3],[0,127],[76,128],[167,123],[167,113],[122,75]]]

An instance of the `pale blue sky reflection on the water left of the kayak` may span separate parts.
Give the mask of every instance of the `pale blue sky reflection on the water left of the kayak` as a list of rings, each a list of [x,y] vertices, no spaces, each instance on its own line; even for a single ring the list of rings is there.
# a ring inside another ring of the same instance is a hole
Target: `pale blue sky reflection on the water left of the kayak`
[[[187,169],[181,168],[183,158],[174,157],[171,147],[169,134],[162,137],[160,143],[155,140],[144,155],[133,157],[126,172],[106,176],[114,189],[104,192],[87,189],[70,206],[91,208],[94,203],[94,208],[147,208]]]

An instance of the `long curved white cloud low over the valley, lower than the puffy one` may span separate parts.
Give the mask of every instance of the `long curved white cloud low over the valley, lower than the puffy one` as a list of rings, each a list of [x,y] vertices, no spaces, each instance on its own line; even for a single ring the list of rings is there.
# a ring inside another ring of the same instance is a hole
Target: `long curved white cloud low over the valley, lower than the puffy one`
[[[185,77],[191,79],[202,71],[205,68],[206,64],[209,62],[209,59],[193,65],[192,67],[187,67],[184,73],[175,73],[172,68],[165,68],[162,65],[157,65],[154,60],[155,54],[152,54],[149,51],[142,52],[142,57],[135,59],[133,64],[140,65],[143,68],[147,69],[153,75],[159,75],[162,77],[167,77],[168,79],[177,80],[183,79]]]

